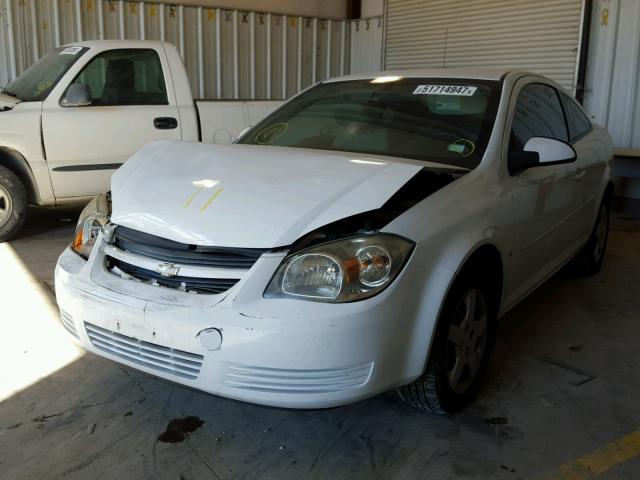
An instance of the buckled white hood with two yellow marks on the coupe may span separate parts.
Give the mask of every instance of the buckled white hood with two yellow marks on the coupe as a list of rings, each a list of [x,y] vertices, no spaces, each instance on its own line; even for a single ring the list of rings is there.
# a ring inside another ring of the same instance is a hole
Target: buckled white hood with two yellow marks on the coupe
[[[350,153],[154,142],[113,175],[112,221],[182,243],[280,247],[381,207],[422,168]]]

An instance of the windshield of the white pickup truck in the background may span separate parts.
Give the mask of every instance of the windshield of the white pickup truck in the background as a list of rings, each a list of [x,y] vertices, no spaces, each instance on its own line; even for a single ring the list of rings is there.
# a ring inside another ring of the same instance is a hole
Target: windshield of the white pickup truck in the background
[[[86,52],[84,47],[55,48],[34,63],[4,89],[4,93],[23,102],[40,102],[47,98],[62,75]]]

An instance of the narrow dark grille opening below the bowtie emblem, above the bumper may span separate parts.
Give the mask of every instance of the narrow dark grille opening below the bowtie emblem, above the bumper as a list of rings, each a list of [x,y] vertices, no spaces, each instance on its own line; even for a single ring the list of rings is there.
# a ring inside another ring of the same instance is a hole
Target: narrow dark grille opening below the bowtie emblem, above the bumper
[[[163,287],[177,288],[185,292],[209,295],[226,292],[240,281],[238,278],[163,277],[153,270],[131,265],[130,263],[110,256],[106,257],[106,265],[107,269],[111,272],[113,272],[114,267],[117,267],[127,275],[144,282],[162,285]]]

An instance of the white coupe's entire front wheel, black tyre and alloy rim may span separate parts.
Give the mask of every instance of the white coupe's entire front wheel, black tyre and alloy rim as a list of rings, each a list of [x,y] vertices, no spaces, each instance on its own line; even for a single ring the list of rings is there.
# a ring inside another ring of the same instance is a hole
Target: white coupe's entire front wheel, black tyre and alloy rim
[[[402,400],[438,414],[453,413],[471,403],[495,335],[495,314],[488,298],[482,282],[456,280],[438,321],[427,368],[420,378],[398,388]]]

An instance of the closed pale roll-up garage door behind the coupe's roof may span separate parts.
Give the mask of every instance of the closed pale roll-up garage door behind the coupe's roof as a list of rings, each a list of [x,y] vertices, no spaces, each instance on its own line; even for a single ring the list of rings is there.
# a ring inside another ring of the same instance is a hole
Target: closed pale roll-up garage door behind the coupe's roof
[[[583,0],[387,0],[385,68],[506,67],[573,91]]]

